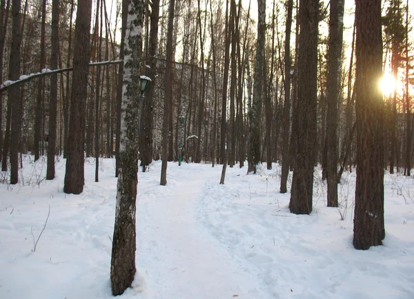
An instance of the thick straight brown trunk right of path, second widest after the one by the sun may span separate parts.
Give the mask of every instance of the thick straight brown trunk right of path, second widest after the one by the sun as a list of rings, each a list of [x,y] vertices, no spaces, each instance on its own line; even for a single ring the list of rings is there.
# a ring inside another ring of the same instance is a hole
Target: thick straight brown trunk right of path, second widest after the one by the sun
[[[290,212],[310,214],[313,196],[317,108],[318,0],[300,0],[296,155]]]

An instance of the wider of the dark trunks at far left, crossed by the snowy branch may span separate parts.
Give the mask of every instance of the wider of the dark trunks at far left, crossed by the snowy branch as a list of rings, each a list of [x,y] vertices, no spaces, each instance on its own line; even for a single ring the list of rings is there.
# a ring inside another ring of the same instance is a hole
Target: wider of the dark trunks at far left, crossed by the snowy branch
[[[20,72],[20,0],[12,0],[12,45],[10,46],[9,80],[19,79]],[[10,184],[17,184],[19,181],[19,145],[21,135],[22,109],[19,87],[11,87],[8,92],[8,101],[12,105],[12,128],[10,136]],[[10,103],[11,102],[11,103]]]

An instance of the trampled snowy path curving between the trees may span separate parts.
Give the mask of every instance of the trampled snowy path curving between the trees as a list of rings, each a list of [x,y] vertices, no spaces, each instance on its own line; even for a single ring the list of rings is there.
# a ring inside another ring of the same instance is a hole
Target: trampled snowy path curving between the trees
[[[211,172],[203,172],[201,168],[197,175],[186,174],[184,167],[178,170],[181,183],[158,187],[165,196],[137,206],[137,235],[150,240],[144,244],[137,241],[137,264],[144,269],[152,268],[146,273],[148,296],[267,298],[257,276],[239,267],[229,252],[197,223],[195,207],[201,190],[207,181],[217,181],[217,174],[212,177]],[[170,189],[172,192],[168,194]],[[148,204],[152,212],[143,215],[141,212],[148,212],[145,207]],[[140,256],[149,260],[141,260]]]

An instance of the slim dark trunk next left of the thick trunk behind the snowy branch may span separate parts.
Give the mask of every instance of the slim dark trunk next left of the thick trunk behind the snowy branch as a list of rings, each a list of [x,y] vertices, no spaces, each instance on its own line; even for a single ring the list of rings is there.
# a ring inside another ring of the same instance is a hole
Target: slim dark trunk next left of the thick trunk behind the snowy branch
[[[57,55],[59,53],[59,0],[52,0],[52,56],[50,65],[52,70],[57,70]],[[49,99],[49,143],[48,143],[48,169],[46,180],[55,178],[55,154],[56,154],[56,130],[57,130],[57,74],[50,76]]]

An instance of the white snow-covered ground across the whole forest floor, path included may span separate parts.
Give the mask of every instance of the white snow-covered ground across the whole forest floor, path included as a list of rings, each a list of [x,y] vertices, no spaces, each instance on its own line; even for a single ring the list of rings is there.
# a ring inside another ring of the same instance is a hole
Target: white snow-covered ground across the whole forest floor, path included
[[[22,183],[0,183],[0,298],[111,298],[115,161],[101,160],[99,183],[87,161],[75,196],[63,194],[63,159],[53,181],[31,159]],[[339,209],[326,207],[315,172],[313,213],[297,216],[278,165],[228,167],[225,185],[221,165],[169,163],[166,186],[160,169],[138,175],[138,272],[122,298],[414,298],[413,178],[386,174],[384,246],[357,251],[355,172],[344,174]]]

